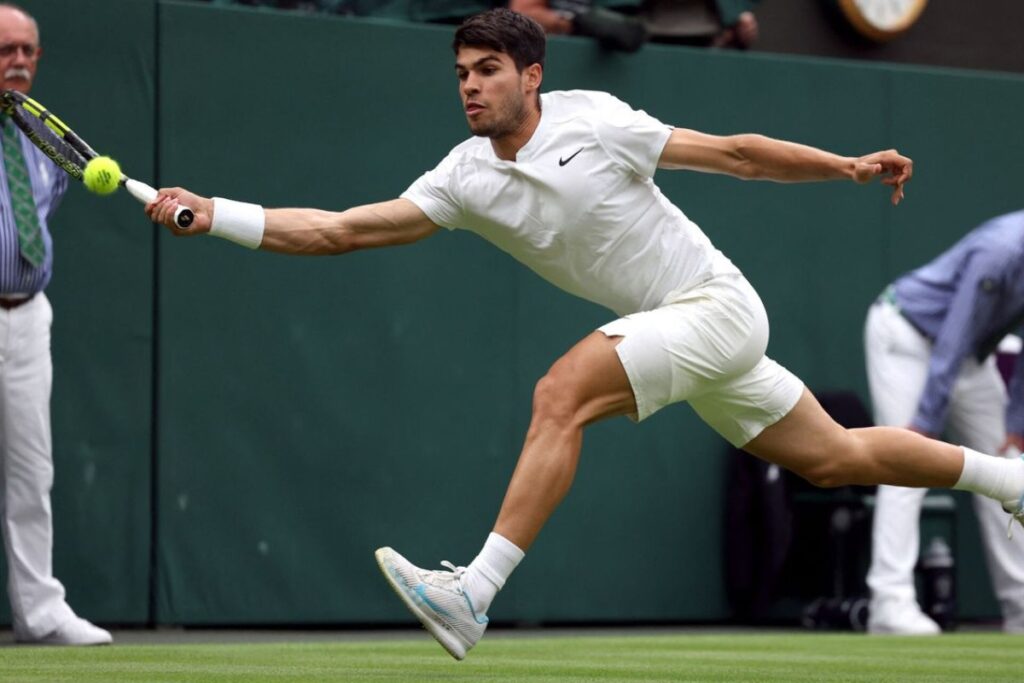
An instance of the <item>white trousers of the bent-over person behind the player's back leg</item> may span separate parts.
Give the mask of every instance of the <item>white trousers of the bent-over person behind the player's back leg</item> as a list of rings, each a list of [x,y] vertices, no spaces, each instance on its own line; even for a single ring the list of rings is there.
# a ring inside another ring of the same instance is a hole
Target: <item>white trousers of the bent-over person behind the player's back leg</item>
[[[931,342],[889,303],[876,303],[864,329],[867,379],[874,422],[905,427],[918,410],[928,378]],[[993,357],[964,360],[949,397],[948,438],[995,454],[1006,438],[1007,390]],[[915,600],[913,567],[925,488],[879,486],[867,585],[877,604]],[[1007,539],[1007,513],[995,501],[974,496],[988,571],[1008,630],[1024,628],[1024,533]]]

